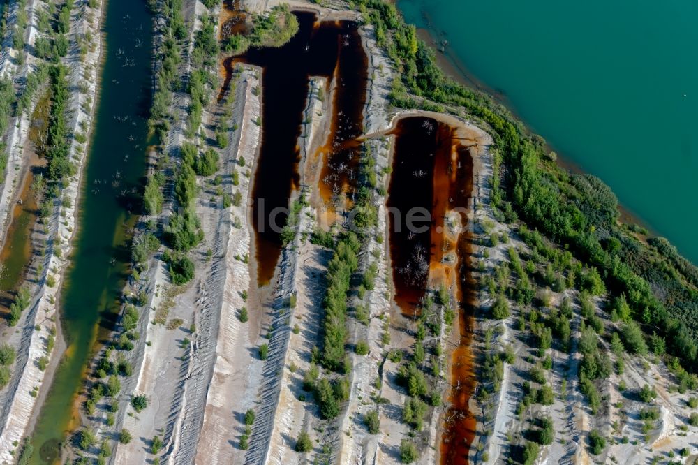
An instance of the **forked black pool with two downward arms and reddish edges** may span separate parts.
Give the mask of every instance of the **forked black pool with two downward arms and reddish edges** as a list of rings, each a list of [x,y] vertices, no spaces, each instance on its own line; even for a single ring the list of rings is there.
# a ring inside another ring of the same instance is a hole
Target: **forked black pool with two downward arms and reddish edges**
[[[226,6],[232,8],[233,3]],[[300,187],[298,139],[305,124],[303,110],[311,76],[334,77],[338,86],[332,128],[321,151],[325,157],[323,175],[331,177],[337,189],[352,189],[356,174],[353,168],[359,159],[355,139],[363,131],[368,60],[358,25],[350,21],[317,22],[314,13],[294,14],[299,30],[283,47],[251,48],[243,56],[223,62],[221,95],[228,89],[236,64],[262,67],[262,141],[252,191],[259,286],[265,286],[274,276],[289,198],[292,190]],[[225,24],[239,24],[239,17],[230,17]]]

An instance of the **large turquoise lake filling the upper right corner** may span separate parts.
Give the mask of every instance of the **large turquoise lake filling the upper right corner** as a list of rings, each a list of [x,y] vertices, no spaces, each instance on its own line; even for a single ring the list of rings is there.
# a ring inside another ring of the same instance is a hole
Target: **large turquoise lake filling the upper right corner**
[[[698,3],[397,5],[558,154],[698,263]]]

